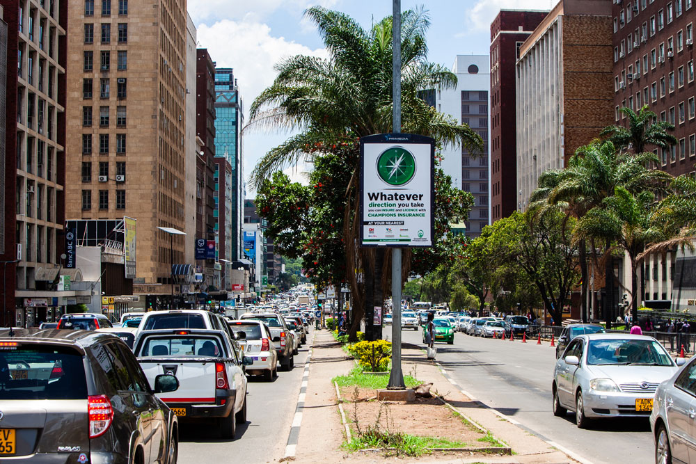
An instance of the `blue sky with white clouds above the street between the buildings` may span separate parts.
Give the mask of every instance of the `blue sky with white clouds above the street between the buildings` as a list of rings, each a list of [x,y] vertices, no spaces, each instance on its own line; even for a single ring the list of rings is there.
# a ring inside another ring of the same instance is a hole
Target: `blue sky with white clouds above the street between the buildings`
[[[431,26],[427,35],[429,61],[450,68],[455,56],[487,55],[490,26],[501,8],[551,9],[553,0],[402,0],[402,10],[425,6]],[[207,48],[218,67],[232,67],[239,85],[244,115],[276,77],[274,64],[297,54],[326,58],[315,26],[303,17],[310,6],[324,6],[353,17],[365,29],[392,13],[390,0],[189,0],[189,15],[197,29],[198,48]],[[287,131],[244,133],[244,173],[272,147],[292,135]],[[287,168],[301,181],[306,165]],[[247,196],[254,193],[247,184]]]

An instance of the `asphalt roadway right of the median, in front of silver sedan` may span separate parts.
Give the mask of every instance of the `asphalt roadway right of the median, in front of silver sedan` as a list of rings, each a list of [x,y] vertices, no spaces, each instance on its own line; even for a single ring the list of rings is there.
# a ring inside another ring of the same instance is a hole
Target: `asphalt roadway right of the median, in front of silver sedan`
[[[385,335],[391,338],[391,328]],[[422,335],[402,332],[404,343],[422,344]],[[545,440],[561,445],[594,463],[642,464],[654,462],[654,444],[645,419],[597,422],[591,430],[578,429],[574,415],[551,413],[554,349],[536,341],[482,339],[463,333],[454,345],[437,344],[437,360],[461,387],[513,417]]]

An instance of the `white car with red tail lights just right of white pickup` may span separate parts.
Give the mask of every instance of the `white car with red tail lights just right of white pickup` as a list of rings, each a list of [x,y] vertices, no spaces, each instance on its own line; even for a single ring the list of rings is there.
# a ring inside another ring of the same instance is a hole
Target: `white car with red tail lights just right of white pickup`
[[[253,360],[253,364],[246,368],[246,374],[262,375],[269,382],[278,376],[278,353],[271,348],[271,333],[266,324],[248,319],[227,323],[237,335],[244,355]]]

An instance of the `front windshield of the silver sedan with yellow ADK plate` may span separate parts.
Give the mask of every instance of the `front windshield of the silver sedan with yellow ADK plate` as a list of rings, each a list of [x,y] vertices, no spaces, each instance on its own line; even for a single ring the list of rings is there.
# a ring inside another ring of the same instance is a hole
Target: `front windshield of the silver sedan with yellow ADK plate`
[[[587,351],[590,365],[673,366],[672,358],[661,344],[648,339],[590,340]]]

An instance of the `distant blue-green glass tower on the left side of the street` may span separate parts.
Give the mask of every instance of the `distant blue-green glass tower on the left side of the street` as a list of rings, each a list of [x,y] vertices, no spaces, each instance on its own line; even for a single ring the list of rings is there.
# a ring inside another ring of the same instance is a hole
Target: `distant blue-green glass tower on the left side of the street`
[[[232,210],[228,214],[232,261],[242,258],[244,223],[244,154],[242,127],[244,106],[232,68],[215,70],[215,156],[225,157],[232,167]]]

